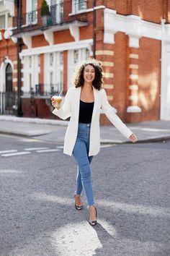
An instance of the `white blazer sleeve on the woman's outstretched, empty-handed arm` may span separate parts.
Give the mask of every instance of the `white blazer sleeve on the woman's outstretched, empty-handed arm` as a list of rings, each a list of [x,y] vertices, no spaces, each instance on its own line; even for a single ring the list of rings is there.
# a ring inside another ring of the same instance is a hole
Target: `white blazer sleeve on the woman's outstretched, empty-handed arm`
[[[122,120],[115,114],[114,108],[109,104],[107,100],[107,94],[104,89],[101,90],[102,93],[102,109],[104,114],[107,116],[109,121],[114,124],[114,126],[124,135],[125,137],[129,138],[130,135],[133,134],[132,131],[122,122]]]

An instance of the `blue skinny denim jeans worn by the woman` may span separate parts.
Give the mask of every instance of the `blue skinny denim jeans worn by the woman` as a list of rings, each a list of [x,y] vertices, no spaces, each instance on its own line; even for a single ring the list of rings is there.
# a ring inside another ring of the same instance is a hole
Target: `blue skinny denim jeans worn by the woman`
[[[73,156],[78,164],[76,177],[76,195],[81,195],[82,189],[86,194],[87,204],[94,205],[92,178],[90,163],[92,156],[89,156],[89,137],[91,124],[79,123],[78,135],[73,148]]]

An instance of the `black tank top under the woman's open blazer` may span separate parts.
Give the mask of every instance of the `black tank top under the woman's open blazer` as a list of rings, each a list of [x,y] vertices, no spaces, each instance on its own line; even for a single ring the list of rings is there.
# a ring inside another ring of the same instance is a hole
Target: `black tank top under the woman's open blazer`
[[[79,123],[91,124],[94,102],[80,101],[79,108]]]

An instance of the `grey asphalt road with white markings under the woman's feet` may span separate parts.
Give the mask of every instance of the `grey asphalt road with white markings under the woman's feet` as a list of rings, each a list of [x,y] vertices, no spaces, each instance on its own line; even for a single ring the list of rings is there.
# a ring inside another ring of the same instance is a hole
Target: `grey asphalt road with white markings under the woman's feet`
[[[62,145],[0,135],[0,255],[169,256],[169,166],[169,142],[102,148],[91,227],[74,208],[76,163]]]

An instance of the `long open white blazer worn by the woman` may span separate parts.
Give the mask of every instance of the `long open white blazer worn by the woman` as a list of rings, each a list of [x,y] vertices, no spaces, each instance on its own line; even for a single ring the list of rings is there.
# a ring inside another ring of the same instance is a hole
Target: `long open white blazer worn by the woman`
[[[103,109],[104,114],[106,114],[109,121],[115,125],[115,127],[124,135],[125,137],[130,137],[133,132],[126,127],[126,125],[120,120],[120,118],[115,114],[114,109],[107,101],[107,94],[104,89],[94,90],[94,109],[91,118],[91,129],[90,129],[90,145],[89,145],[89,156],[97,155],[100,150],[100,134],[99,134],[99,115],[100,108]],[[80,104],[80,94],[81,87],[79,88],[69,88],[66,93],[66,98],[61,108],[55,108],[53,114],[59,116],[61,119],[70,118],[68,128],[66,130],[64,149],[63,153],[71,155],[76,142],[78,125],[79,125],[79,104]]]

